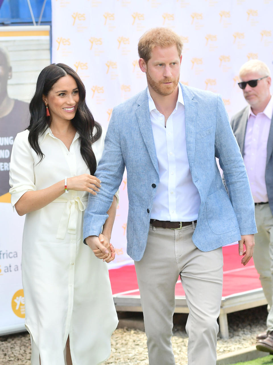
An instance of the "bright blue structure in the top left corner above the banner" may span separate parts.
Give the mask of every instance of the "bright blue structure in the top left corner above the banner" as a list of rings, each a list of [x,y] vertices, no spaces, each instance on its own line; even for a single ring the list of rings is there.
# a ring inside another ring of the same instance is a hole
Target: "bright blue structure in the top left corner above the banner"
[[[0,26],[33,25],[33,20],[51,24],[51,0],[0,0]]]

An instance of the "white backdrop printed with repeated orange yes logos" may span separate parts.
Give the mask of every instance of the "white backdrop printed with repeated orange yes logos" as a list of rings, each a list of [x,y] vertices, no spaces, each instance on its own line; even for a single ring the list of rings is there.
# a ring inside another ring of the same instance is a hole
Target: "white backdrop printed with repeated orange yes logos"
[[[240,66],[261,59],[273,70],[272,14],[273,0],[54,0],[52,62],[78,72],[94,118],[107,128],[112,108],[147,85],[139,38],[149,28],[169,27],[184,42],[181,82],[220,93],[231,116],[246,105],[237,85]],[[131,262],[126,175],[120,192],[110,268]]]

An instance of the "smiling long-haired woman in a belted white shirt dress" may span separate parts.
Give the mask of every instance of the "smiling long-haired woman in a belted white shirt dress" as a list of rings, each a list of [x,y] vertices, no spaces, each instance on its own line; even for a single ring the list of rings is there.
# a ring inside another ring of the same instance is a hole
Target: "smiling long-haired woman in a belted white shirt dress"
[[[97,365],[110,356],[118,323],[106,264],[115,256],[118,196],[101,246],[84,245],[82,226],[88,193],[103,184],[93,175],[105,132],[87,108],[79,76],[64,64],[41,71],[29,110],[29,126],[13,144],[10,193],[18,214],[26,214],[22,278],[31,364]]]

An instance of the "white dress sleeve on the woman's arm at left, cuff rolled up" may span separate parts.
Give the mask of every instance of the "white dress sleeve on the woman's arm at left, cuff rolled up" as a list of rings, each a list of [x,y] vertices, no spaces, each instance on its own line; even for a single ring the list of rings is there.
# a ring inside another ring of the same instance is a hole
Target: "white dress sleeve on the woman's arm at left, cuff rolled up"
[[[11,205],[14,205],[27,191],[35,191],[34,160],[28,143],[28,131],[17,134],[11,152],[9,170],[9,193]]]

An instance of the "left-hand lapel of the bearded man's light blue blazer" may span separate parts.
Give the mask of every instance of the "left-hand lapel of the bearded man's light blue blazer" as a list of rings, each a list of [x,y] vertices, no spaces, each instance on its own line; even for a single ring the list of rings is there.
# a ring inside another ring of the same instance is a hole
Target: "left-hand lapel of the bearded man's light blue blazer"
[[[135,114],[137,117],[139,129],[141,131],[143,141],[149,152],[151,161],[153,162],[154,168],[159,174],[157,154],[155,151],[155,144],[154,144],[154,135],[149,112],[147,88],[140,93],[139,98],[137,100],[137,104],[138,107],[136,109]]]

